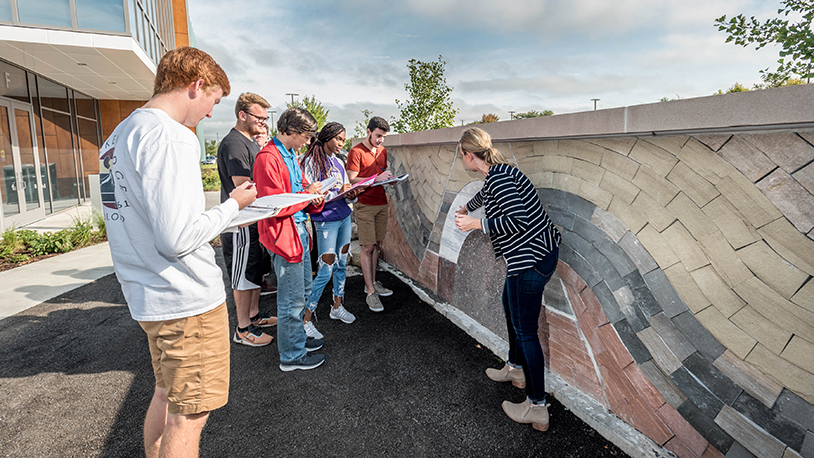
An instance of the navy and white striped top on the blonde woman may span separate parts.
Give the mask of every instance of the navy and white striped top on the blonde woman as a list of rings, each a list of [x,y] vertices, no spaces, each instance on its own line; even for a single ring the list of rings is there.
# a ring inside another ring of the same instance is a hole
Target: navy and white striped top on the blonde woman
[[[486,218],[481,220],[483,232],[492,239],[495,257],[506,259],[508,276],[534,267],[562,240],[534,185],[516,167],[489,167],[483,188],[466,203],[466,210],[472,212],[481,206],[486,211]]]

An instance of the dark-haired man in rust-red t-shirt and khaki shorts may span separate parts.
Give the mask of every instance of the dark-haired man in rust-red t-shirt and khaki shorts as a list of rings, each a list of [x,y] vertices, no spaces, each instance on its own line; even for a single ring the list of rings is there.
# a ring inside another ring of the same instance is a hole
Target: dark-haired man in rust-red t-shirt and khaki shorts
[[[367,137],[348,153],[347,172],[351,184],[364,181],[376,174],[376,181],[393,176],[387,171],[387,150],[382,146],[390,125],[384,118],[374,116],[367,124]],[[382,186],[371,186],[359,194],[354,205],[356,227],[361,249],[362,275],[365,278],[367,306],[374,312],[384,310],[379,296],[389,296],[393,291],[376,281],[379,250],[387,233],[387,193]]]

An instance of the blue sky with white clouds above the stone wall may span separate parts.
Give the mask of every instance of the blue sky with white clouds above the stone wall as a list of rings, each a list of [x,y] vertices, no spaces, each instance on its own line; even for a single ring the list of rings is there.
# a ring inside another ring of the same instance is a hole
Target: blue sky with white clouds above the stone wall
[[[509,111],[556,114],[710,95],[751,86],[777,48],[724,43],[715,18],[773,17],[773,0],[233,0],[188,2],[198,47],[229,75],[232,94],[203,125],[234,125],[241,92],[276,110],[315,95],[352,132],[360,110],[390,119],[407,61],[447,62],[461,121]]]

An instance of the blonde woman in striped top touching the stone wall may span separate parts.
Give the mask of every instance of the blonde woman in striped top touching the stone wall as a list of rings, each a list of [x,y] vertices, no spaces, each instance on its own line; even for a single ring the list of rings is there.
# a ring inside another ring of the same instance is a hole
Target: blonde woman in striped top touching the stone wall
[[[543,209],[537,191],[523,173],[492,147],[489,134],[477,127],[458,142],[464,166],[485,177],[483,188],[455,213],[458,229],[481,230],[492,240],[495,256],[506,259],[503,311],[509,331],[509,360],[502,369],[487,369],[497,382],[525,388],[526,400],[503,402],[503,411],[518,423],[548,430],[545,358],[537,335],[543,289],[557,268],[559,231]],[[485,217],[469,212],[484,208]]]

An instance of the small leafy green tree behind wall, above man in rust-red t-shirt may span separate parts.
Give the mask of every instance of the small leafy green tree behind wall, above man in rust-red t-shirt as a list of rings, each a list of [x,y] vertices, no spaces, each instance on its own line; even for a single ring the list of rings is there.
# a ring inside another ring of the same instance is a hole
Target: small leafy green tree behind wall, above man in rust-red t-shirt
[[[458,110],[452,106],[449,94],[452,88],[444,78],[446,62],[438,56],[437,62],[410,59],[410,82],[404,85],[408,99],[404,103],[396,99],[399,118],[393,118],[396,132],[416,132],[442,129],[455,123]]]

